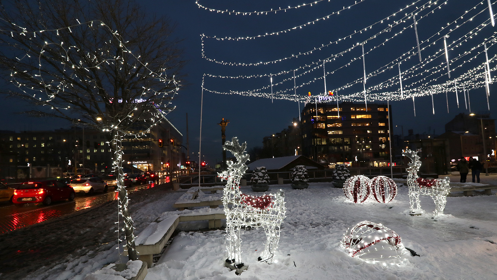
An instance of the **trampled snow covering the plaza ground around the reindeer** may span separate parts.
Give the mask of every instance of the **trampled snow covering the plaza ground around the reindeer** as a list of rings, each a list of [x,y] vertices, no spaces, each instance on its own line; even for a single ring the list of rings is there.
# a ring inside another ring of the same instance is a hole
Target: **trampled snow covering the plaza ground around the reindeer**
[[[482,175],[482,183],[497,184],[497,175]],[[456,175],[450,177],[453,182],[459,181]],[[262,230],[248,230],[242,236],[243,260],[249,268],[241,276],[224,267],[223,230],[181,232],[159,262],[148,270],[146,280],[497,279],[496,195],[448,197],[445,215],[431,219],[429,215],[412,217],[408,214],[409,198],[405,186],[399,188],[397,198],[390,203],[368,201],[360,205],[348,202],[342,190],[331,187],[330,183],[311,183],[304,190],[293,190],[288,184],[271,185],[270,191],[279,188],[285,191],[288,210],[276,253],[277,263],[268,265],[256,261],[265,242]],[[249,187],[242,190],[251,193]],[[172,212],[172,204],[182,194],[184,190],[150,192],[135,199],[130,209],[136,233],[163,212]],[[421,206],[428,213],[435,208],[431,198],[426,196],[421,197]],[[174,212],[163,216],[179,211]],[[108,217],[102,219],[115,220],[112,213],[105,215]],[[402,237],[403,244],[420,256],[408,256],[405,264],[386,267],[349,257],[341,250],[339,242],[348,227],[363,220],[382,223],[394,230]],[[83,280],[103,265],[127,262],[126,257],[119,257],[115,247],[107,244],[96,246],[85,254],[73,254],[57,265],[33,271],[24,279]]]

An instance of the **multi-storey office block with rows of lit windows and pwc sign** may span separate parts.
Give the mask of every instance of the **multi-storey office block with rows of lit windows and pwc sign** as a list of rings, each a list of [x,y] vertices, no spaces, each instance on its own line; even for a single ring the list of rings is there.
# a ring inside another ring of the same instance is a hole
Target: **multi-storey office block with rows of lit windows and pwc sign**
[[[386,104],[308,103],[302,111],[302,154],[333,167],[387,166],[390,108]],[[391,114],[390,114],[391,116]]]

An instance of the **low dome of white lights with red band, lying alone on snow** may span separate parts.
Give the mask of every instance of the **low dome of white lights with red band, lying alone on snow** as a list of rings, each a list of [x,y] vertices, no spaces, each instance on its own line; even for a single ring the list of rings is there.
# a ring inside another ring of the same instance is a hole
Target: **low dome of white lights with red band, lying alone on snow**
[[[350,257],[372,264],[402,262],[405,260],[402,255],[408,252],[395,231],[369,221],[350,227],[343,235],[341,245]]]

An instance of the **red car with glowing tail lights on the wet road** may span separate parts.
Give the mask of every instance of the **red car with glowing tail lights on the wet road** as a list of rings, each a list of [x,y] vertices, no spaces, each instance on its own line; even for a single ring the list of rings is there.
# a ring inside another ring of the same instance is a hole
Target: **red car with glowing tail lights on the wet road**
[[[56,180],[43,180],[15,186],[12,202],[18,205],[30,202],[50,205],[52,201],[74,200],[74,197],[75,192],[71,186]]]

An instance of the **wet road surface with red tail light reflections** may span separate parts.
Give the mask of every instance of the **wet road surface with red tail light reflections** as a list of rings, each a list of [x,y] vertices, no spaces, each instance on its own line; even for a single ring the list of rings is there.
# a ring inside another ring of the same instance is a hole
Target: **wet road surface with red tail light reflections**
[[[153,188],[156,185],[157,184],[145,184],[127,187],[126,190],[128,193],[133,193],[142,189]],[[91,196],[77,193],[74,201],[57,201],[49,206],[45,206],[43,203],[25,203],[19,207],[16,204],[2,202],[0,203],[0,234],[116,199],[117,192],[111,187],[107,193],[95,193]]]

